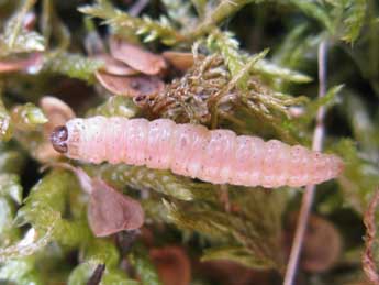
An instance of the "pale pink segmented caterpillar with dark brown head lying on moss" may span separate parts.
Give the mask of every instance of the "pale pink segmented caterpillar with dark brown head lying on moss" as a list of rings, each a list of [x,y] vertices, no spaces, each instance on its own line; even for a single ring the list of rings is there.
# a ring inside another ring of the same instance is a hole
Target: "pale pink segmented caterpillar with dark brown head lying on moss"
[[[73,119],[56,128],[51,140],[70,158],[171,169],[214,184],[300,187],[332,179],[343,169],[335,155],[168,119]]]

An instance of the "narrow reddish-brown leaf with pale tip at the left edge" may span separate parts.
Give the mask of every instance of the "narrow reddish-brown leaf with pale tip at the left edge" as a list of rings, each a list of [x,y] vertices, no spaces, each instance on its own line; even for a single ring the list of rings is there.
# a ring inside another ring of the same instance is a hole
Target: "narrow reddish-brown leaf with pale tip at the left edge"
[[[43,55],[41,53],[33,53],[26,58],[2,59],[0,61],[0,74],[25,72],[29,74],[37,73],[43,65]]]

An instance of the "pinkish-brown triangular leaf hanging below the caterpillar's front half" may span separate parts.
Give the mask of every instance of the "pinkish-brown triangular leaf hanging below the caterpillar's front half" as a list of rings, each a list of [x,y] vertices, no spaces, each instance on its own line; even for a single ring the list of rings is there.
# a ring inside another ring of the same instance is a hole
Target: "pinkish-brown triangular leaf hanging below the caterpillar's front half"
[[[92,179],[92,193],[88,205],[88,221],[97,237],[107,237],[123,230],[135,230],[144,223],[141,204]]]

